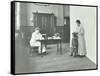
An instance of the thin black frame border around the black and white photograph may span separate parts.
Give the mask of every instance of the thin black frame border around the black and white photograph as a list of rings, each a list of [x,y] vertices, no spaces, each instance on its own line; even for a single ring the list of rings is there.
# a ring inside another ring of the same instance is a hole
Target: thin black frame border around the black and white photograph
[[[15,73],[15,3],[16,2],[96,7],[96,69],[64,70],[64,71],[35,72],[35,73]],[[31,2],[31,1],[11,1],[11,74],[13,74],[13,75],[40,74],[40,73],[55,73],[55,72],[87,71],[87,70],[97,70],[97,69],[98,69],[98,6],[96,6],[96,5],[80,5],[80,4],[47,3],[47,2]]]

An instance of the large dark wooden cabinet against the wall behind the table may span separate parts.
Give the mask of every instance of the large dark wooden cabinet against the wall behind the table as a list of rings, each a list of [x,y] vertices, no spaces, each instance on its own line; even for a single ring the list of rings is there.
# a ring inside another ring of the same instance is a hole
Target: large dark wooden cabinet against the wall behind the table
[[[33,13],[34,26],[39,27],[41,33],[52,36],[56,31],[56,16],[53,13]]]

